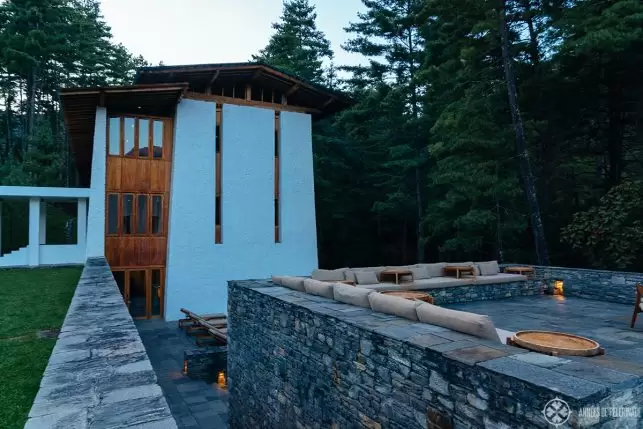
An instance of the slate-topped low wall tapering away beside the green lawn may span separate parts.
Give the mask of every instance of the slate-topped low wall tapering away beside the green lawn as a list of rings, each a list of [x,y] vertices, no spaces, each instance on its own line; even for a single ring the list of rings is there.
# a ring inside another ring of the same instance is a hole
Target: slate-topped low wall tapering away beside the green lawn
[[[103,258],[87,260],[25,429],[176,429]]]

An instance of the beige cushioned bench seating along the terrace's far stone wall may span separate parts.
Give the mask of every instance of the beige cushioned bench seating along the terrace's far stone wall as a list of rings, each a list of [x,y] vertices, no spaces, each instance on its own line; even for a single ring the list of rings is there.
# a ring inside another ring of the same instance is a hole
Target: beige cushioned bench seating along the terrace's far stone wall
[[[474,267],[474,277],[445,276],[444,267],[447,265],[464,265]],[[401,282],[399,285],[380,281],[380,273],[387,269],[407,269],[413,274],[413,280]],[[338,268],[335,270],[314,270],[311,278],[325,282],[351,281],[355,286],[375,291],[383,290],[430,290],[454,286],[483,285],[494,283],[510,283],[527,280],[520,274],[506,274],[500,272],[498,261],[488,262],[438,262],[434,264],[415,264],[398,267],[364,267],[364,268]]]

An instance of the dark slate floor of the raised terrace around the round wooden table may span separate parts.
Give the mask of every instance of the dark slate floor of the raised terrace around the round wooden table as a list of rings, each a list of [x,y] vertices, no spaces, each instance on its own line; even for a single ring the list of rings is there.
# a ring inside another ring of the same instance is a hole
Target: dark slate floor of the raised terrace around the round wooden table
[[[643,376],[643,318],[639,317],[634,328],[630,328],[633,305],[544,295],[450,304],[446,307],[486,314],[496,328],[507,331],[535,329],[567,332],[597,341],[605,349],[604,356],[591,358],[543,358],[543,362],[554,367],[570,359],[578,361],[574,365],[558,368],[562,373],[573,375],[588,369],[588,365],[602,365]]]

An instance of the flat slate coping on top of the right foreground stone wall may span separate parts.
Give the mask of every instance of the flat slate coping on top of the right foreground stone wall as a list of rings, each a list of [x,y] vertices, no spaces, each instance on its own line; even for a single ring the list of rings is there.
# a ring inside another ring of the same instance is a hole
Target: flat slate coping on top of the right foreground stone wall
[[[361,329],[401,341],[420,349],[425,358],[444,367],[477,367],[487,373],[490,384],[503,389],[506,383],[520,383],[527,391],[538,390],[543,397],[562,397],[571,404],[595,404],[619,389],[643,386],[643,377],[608,370],[584,361],[559,359],[517,347],[477,338],[422,322],[377,313],[371,309],[343,304],[275,285],[271,280],[229,281],[229,287],[271,297],[284,305],[336,319]],[[234,329],[234,327],[232,327]],[[233,333],[231,335],[234,335]],[[373,345],[363,345],[372,347]],[[363,348],[363,347],[362,347]],[[395,354],[390,350],[389,354]],[[552,362],[556,362],[552,364]],[[587,371],[569,367],[586,365]]]

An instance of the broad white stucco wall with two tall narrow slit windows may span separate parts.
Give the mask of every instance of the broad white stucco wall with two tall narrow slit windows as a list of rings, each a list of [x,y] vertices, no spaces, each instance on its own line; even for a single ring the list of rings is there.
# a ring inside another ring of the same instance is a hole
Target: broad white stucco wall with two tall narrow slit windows
[[[227,312],[227,281],[317,267],[310,117],[282,116],[282,242],[274,242],[274,112],[224,105],[222,244],[214,243],[214,103],[177,107],[165,318]]]

